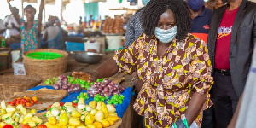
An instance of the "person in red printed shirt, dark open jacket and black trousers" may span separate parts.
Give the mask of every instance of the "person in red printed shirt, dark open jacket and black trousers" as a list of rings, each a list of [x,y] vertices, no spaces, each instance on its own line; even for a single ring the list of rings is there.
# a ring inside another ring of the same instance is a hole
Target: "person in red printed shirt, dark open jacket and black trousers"
[[[225,2],[226,5],[213,12],[207,38],[214,69],[211,95],[218,128],[226,128],[232,119],[246,84],[256,43],[256,3]]]

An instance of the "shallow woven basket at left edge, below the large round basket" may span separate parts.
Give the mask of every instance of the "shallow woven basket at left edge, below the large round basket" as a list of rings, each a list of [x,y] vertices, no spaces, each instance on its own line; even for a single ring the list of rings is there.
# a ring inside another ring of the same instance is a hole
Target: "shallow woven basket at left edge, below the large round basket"
[[[0,75],[0,101],[14,96],[14,92],[28,90],[42,82],[39,76]]]

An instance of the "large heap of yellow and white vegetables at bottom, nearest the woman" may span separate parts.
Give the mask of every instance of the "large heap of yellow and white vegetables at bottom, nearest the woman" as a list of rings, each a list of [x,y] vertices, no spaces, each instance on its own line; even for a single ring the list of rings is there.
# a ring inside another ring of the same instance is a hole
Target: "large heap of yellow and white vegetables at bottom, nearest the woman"
[[[119,120],[113,105],[104,102],[91,101],[84,104],[84,97],[79,98],[78,106],[73,107],[72,102],[66,102],[63,106],[55,103],[46,113],[47,127],[76,127],[76,128],[102,128],[113,125]]]

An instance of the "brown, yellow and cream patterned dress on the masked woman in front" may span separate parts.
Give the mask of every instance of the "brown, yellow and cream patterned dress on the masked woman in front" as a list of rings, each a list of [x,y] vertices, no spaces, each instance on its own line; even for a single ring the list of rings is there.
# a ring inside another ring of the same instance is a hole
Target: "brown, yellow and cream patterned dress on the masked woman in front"
[[[145,117],[146,127],[171,127],[186,113],[195,92],[207,94],[201,113],[195,119],[201,126],[202,111],[212,106],[212,65],[206,44],[188,34],[172,41],[166,53],[157,56],[158,39],[142,34],[129,47],[116,51],[113,59],[119,72],[137,74],[144,84],[133,108]]]

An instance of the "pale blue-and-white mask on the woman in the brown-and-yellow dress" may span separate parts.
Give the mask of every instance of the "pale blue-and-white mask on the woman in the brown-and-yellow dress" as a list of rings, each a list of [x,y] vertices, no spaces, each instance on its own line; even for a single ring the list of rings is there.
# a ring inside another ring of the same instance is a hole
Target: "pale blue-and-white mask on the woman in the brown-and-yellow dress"
[[[177,35],[177,26],[167,30],[155,27],[154,34],[162,43],[170,43]]]

